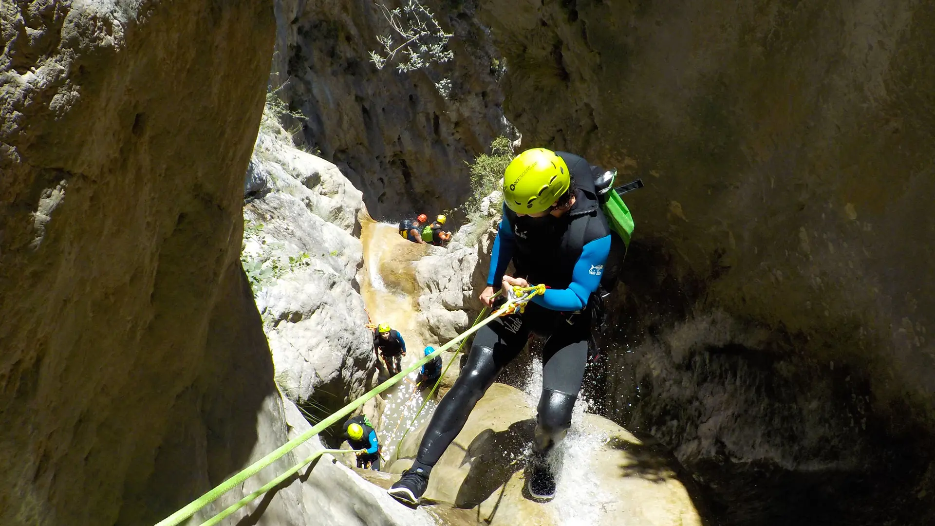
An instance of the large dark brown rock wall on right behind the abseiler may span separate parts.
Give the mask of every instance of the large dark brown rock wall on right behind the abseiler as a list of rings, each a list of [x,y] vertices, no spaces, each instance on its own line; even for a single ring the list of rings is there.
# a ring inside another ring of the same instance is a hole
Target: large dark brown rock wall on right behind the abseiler
[[[703,474],[727,520],[931,522],[931,7],[477,13],[524,145],[646,183],[626,196],[609,413]],[[777,511],[789,489],[814,505]]]

